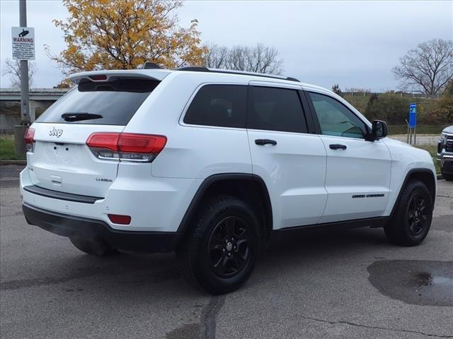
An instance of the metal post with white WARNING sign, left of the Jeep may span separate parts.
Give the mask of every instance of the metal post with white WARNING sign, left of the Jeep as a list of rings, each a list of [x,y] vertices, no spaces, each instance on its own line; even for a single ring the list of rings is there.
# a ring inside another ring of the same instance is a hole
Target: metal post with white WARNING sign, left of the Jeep
[[[35,59],[35,29],[27,26],[27,3],[19,0],[19,25],[11,28],[13,59],[21,61],[21,124],[14,126],[16,157],[23,157],[26,152],[23,136],[30,126],[28,100],[28,60]]]

